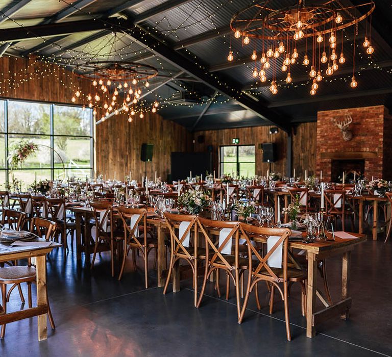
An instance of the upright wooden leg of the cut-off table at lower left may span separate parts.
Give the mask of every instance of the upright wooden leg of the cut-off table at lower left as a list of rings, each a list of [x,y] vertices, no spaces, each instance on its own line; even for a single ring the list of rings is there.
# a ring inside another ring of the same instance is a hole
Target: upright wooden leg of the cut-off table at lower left
[[[47,305],[46,256],[37,257],[37,306]],[[47,314],[38,316],[38,341],[47,339]]]

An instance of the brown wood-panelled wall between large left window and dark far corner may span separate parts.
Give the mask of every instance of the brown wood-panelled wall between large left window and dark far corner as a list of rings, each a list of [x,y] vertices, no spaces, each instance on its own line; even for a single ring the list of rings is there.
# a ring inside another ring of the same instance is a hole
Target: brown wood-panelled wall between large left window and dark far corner
[[[153,161],[147,163],[147,176],[157,175],[166,181],[170,173],[171,152],[189,151],[191,134],[173,121],[163,120],[158,114],[137,115],[129,123],[125,115],[111,117],[96,126],[96,171],[123,180],[131,170],[136,180],[144,175],[144,162],[140,160],[142,143],[154,144]]]

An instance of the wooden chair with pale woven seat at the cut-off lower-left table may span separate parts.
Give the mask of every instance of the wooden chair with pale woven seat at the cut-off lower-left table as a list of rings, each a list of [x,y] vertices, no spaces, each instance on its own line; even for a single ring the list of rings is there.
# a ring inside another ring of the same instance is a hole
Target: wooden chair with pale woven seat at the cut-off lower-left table
[[[30,232],[36,233],[40,237],[44,237],[46,240],[51,240],[53,235],[56,232],[56,222],[34,217],[31,221]],[[17,286],[19,289],[19,294],[21,294],[20,284],[27,283],[28,286],[28,304],[29,308],[32,308],[32,292],[31,292],[31,284],[36,283],[37,274],[36,268],[31,264],[29,259],[29,263],[27,266],[9,266],[0,268],[0,288],[2,291],[2,305],[4,312],[7,312],[7,302],[10,300],[10,295],[12,290]],[[11,285],[11,289],[7,293],[7,285]],[[47,286],[45,285],[46,296],[47,296]],[[24,302],[23,295],[20,295],[22,302]],[[47,299],[47,316],[51,323],[51,327],[54,329],[55,322],[53,320],[52,311],[49,304],[49,299]],[[2,325],[0,337],[4,338],[6,334],[6,324]]]

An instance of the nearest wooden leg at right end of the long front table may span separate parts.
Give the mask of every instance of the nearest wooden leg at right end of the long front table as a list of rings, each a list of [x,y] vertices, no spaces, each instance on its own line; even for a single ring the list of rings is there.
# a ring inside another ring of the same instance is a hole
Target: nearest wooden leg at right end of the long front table
[[[317,259],[316,254],[308,252],[308,287],[306,292],[306,336],[314,337],[316,334],[315,326],[312,326],[313,313],[316,305],[317,290]]]

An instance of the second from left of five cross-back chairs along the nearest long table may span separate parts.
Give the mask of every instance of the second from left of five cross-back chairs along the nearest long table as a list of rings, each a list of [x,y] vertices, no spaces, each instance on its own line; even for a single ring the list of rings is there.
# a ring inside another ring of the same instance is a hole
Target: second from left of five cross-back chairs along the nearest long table
[[[137,250],[141,252],[144,260],[144,280],[145,288],[149,287],[149,253],[155,248],[155,259],[154,266],[157,260],[157,249],[158,241],[148,235],[147,231],[147,210],[133,209],[118,206],[118,213],[120,214],[122,224],[124,225],[124,255],[122,257],[122,264],[120,273],[118,275],[118,280],[121,279],[122,273],[124,272],[125,262],[128,252],[132,249],[132,259],[134,263],[135,270],[136,267],[136,252]],[[139,217],[131,226],[131,217],[138,215]],[[142,227],[141,232],[139,226]]]

